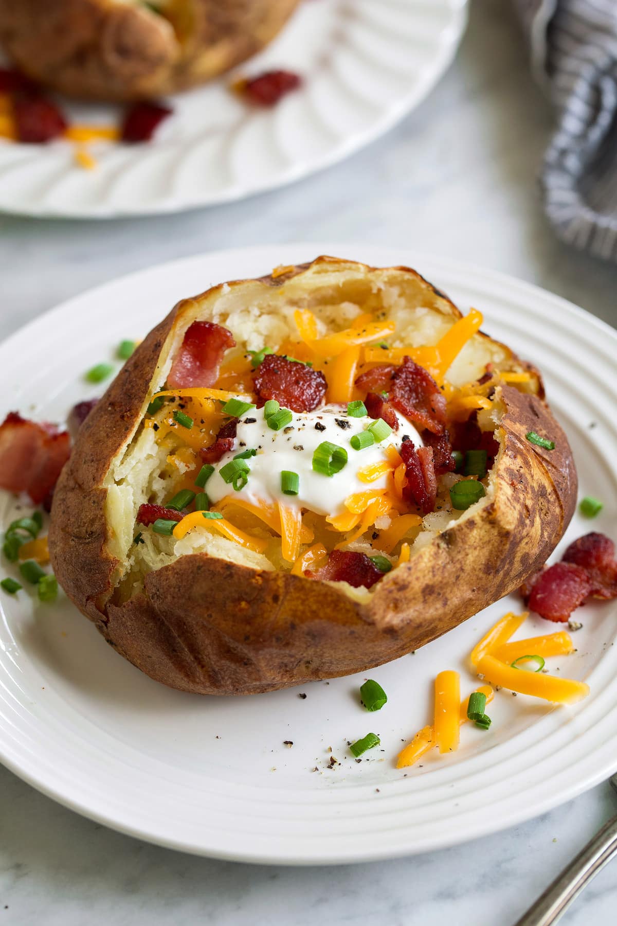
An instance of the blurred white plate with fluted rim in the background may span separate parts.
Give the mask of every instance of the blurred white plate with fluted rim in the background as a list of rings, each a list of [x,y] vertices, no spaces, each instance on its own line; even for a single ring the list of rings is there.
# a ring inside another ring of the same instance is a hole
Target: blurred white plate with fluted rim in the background
[[[176,212],[299,180],[388,131],[448,68],[467,0],[306,0],[263,53],[237,69],[287,68],[304,86],[273,109],[246,106],[233,75],[174,97],[150,144],[94,144],[95,170],[66,142],[0,140],[0,209],[103,219]],[[68,106],[117,124],[113,106]]]

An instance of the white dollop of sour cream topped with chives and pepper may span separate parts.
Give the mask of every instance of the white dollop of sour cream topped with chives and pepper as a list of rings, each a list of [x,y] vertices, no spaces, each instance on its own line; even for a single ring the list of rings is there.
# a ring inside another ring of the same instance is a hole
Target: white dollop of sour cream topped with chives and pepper
[[[398,413],[399,430],[391,432],[380,444],[372,444],[364,450],[354,450],[350,439],[354,434],[365,431],[373,419],[366,416],[352,418],[347,414],[346,407],[333,405],[291,414],[293,417],[289,425],[281,431],[272,431],[268,427],[263,408],[255,408],[241,417],[234,449],[216,464],[215,472],[205,486],[212,503],[231,495],[257,506],[264,503],[270,506],[283,501],[290,507],[308,508],[319,515],[337,516],[345,510],[344,502],[348,495],[386,488],[387,475],[380,476],[374,482],[362,482],[357,475],[359,469],[386,460],[387,448],[394,446],[399,449],[404,435],[409,436],[416,447],[423,445],[413,425]],[[333,476],[326,476],[313,469],[313,454],[324,441],[344,447],[347,451],[347,464]],[[249,449],[257,453],[255,457],[246,459],[250,468],[249,479],[236,493],[223,480],[219,470],[229,460]],[[298,474],[300,489],[297,495],[286,495],[281,491],[280,474],[284,469]]]

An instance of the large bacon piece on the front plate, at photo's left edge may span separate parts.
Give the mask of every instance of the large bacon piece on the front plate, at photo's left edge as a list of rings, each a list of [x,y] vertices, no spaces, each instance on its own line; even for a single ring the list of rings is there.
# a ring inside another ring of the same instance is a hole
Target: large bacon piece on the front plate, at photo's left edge
[[[68,431],[9,412],[0,425],[0,487],[27,492],[39,505],[56,485],[69,455]]]

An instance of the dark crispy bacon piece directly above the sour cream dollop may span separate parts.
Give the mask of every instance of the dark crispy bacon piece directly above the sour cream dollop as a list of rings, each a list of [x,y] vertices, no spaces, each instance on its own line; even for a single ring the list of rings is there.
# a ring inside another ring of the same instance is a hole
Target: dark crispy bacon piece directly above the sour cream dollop
[[[266,354],[253,373],[255,392],[262,400],[276,399],[292,411],[313,411],[326,395],[326,377],[320,369],[298,360]]]

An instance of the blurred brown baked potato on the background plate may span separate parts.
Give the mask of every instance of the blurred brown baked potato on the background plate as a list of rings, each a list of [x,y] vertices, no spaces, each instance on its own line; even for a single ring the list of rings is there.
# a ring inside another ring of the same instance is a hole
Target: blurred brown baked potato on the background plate
[[[60,93],[174,94],[254,55],[299,0],[0,0],[0,46]]]

